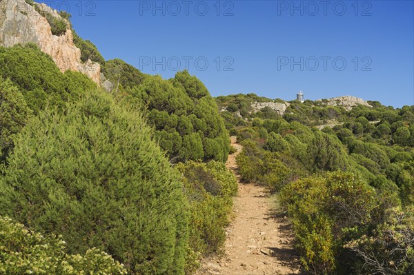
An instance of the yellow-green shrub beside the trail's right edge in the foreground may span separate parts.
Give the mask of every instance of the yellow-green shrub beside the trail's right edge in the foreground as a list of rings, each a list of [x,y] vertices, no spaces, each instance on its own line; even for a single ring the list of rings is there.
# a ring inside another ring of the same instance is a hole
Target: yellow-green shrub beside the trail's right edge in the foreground
[[[312,274],[346,268],[342,246],[366,232],[377,205],[373,188],[346,172],[300,179],[279,197],[293,223],[302,263]]]

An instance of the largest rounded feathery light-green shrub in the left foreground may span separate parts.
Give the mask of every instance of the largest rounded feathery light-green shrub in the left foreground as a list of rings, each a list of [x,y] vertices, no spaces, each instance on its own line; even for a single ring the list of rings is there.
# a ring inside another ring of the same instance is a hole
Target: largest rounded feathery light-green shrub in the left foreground
[[[71,253],[99,247],[132,274],[183,274],[186,200],[151,134],[101,91],[41,112],[15,139],[0,214],[62,234]]]

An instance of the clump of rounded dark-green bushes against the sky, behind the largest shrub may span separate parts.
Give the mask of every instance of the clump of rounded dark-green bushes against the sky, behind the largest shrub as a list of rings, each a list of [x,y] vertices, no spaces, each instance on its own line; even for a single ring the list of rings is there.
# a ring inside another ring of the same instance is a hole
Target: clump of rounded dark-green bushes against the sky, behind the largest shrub
[[[227,159],[228,133],[215,100],[199,79],[184,71],[164,80],[142,74],[118,59],[107,61],[103,72],[114,81],[117,96],[146,112],[170,161]]]

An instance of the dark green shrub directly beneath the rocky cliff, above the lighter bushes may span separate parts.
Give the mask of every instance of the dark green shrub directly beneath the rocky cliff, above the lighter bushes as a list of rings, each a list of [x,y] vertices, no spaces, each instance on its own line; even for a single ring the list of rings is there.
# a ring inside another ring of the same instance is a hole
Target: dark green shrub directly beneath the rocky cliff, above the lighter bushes
[[[46,106],[63,110],[68,101],[97,87],[80,72],[62,74],[52,58],[33,43],[0,47],[0,77],[19,88],[34,114]]]

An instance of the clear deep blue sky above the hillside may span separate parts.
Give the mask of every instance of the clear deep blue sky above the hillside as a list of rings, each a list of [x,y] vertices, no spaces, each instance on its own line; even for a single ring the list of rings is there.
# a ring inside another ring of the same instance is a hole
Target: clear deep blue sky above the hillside
[[[187,67],[213,96],[290,100],[302,90],[313,100],[414,104],[413,1],[48,3],[69,7],[105,59],[167,79]]]

